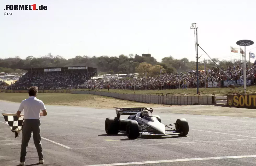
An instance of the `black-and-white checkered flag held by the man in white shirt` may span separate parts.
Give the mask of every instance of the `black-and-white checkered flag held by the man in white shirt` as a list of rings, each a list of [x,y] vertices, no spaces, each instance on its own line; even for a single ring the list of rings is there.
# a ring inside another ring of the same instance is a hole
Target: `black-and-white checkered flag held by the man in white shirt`
[[[5,123],[7,123],[11,127],[11,131],[15,133],[15,138],[19,137],[24,122],[24,116],[22,115],[18,118],[15,113],[2,113],[2,115],[4,116]]]

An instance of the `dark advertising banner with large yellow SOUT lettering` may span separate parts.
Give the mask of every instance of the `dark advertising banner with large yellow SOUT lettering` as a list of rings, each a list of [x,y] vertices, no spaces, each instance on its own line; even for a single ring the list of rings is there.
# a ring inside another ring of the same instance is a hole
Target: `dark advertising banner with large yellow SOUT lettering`
[[[249,95],[249,94],[228,95],[228,105],[238,107],[238,108],[256,109],[256,95]]]

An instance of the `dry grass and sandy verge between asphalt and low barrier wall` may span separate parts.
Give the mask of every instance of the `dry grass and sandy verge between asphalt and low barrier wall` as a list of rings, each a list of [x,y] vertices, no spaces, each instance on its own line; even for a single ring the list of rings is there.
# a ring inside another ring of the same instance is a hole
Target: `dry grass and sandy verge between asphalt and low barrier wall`
[[[28,93],[0,93],[0,100],[20,103],[27,99]],[[82,106],[87,108],[117,108],[117,107],[169,107],[170,105],[138,103],[135,101],[115,99],[92,94],[71,93],[38,93],[37,98],[45,105]]]

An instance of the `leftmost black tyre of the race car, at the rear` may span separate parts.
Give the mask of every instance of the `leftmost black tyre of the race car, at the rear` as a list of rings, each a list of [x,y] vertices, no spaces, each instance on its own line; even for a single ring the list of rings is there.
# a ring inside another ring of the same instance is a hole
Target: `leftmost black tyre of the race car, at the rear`
[[[105,120],[105,131],[107,134],[118,134],[119,133],[119,120],[118,118],[106,118]]]

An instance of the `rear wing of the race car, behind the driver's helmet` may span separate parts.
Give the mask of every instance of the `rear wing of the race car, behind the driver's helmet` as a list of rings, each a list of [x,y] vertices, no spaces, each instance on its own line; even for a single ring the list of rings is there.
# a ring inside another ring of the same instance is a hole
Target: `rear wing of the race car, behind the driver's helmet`
[[[115,113],[117,113],[117,117],[119,119],[121,115],[135,115],[138,112],[141,112],[143,109],[148,110],[151,113],[154,111],[152,108],[134,107],[134,108],[115,108]]]

